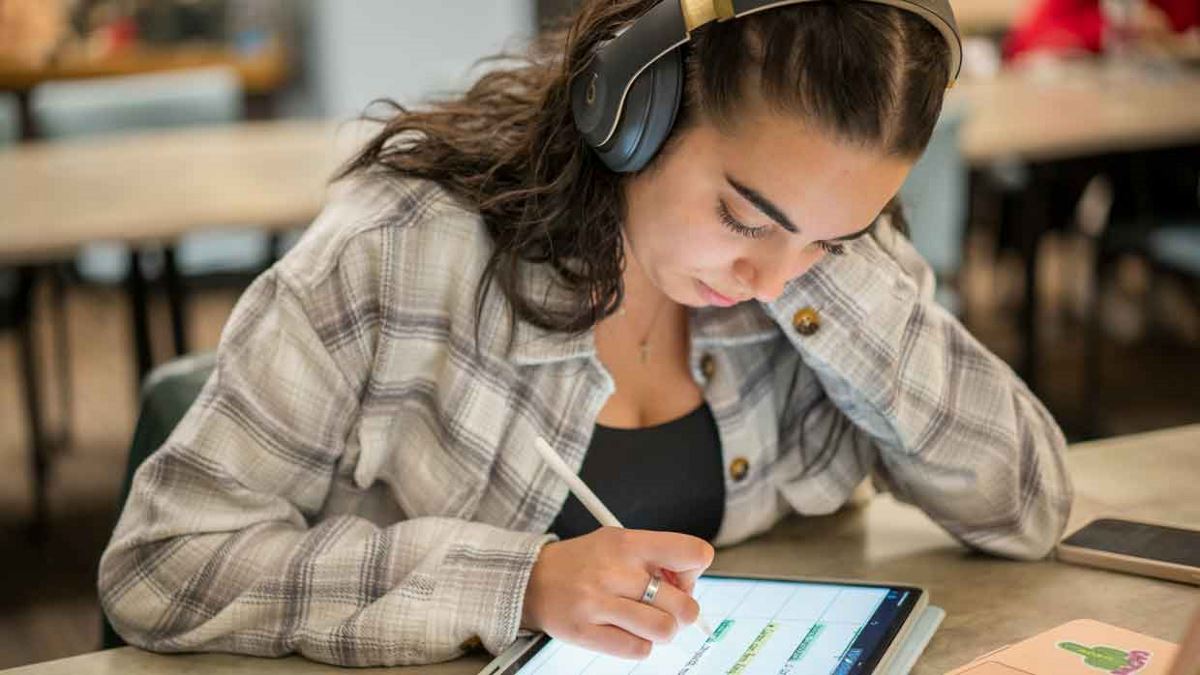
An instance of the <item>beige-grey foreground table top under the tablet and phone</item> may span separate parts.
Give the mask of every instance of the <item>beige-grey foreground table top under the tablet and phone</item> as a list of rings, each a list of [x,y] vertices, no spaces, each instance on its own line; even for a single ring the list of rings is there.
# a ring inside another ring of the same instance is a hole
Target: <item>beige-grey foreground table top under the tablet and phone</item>
[[[1076,490],[1072,530],[1103,514],[1200,526],[1195,488],[1200,483],[1200,424],[1074,446],[1068,465]],[[943,673],[995,647],[1082,617],[1178,641],[1189,616],[1200,609],[1200,590],[1183,584],[967,552],[924,514],[887,496],[830,516],[788,519],[763,537],[719,551],[713,568],[926,586],[947,617],[917,663],[913,673],[918,675]],[[376,671],[468,675],[487,661],[475,655],[438,665]],[[121,647],[5,673],[308,675],[348,670],[299,657],[164,656]]]

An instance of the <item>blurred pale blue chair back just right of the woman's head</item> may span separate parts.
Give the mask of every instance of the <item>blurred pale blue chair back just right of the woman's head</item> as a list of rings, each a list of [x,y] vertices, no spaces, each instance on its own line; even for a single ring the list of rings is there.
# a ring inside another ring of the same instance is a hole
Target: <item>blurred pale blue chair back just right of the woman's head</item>
[[[947,104],[925,154],[900,187],[908,237],[937,276],[936,299],[952,313],[964,313],[959,270],[966,249],[968,173],[961,136],[966,109]]]

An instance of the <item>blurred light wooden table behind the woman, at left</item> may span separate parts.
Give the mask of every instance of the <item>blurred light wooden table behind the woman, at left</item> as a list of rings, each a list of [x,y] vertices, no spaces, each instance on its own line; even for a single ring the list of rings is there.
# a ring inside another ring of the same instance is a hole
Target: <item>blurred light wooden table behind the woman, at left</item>
[[[206,228],[306,225],[365,131],[256,121],[5,150],[0,263],[65,259],[90,241],[156,244]]]

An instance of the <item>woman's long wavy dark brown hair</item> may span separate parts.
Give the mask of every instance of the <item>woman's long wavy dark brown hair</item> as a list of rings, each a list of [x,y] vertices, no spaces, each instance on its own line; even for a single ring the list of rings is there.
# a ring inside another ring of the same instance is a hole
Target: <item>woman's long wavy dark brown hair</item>
[[[494,249],[476,289],[476,318],[492,283],[512,321],[554,331],[587,331],[620,305],[629,175],[610,172],[576,131],[569,83],[599,42],[655,1],[586,0],[569,28],[544,34],[524,55],[498,58],[461,96],[422,109],[386,102],[382,131],[340,172],[382,167],[430,179],[479,210]],[[758,95],[841,139],[911,159],[929,142],[949,71],[949,49],[935,28],[860,1],[713,23],[685,49],[676,132],[698,120],[732,120],[746,95]],[[550,265],[577,303],[552,310],[526,297],[523,263]]]

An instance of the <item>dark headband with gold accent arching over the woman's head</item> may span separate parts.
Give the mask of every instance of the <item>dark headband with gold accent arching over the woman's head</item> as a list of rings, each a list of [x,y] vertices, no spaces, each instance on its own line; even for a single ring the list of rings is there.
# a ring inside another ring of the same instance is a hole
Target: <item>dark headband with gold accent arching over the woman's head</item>
[[[593,147],[608,143],[617,130],[634,82],[702,25],[764,10],[818,0],[660,0],[612,40],[600,44],[571,83],[572,112],[580,132]],[[920,16],[950,48],[949,85],[962,65],[962,43],[949,0],[857,0],[888,5]],[[678,95],[678,92],[677,92]]]

